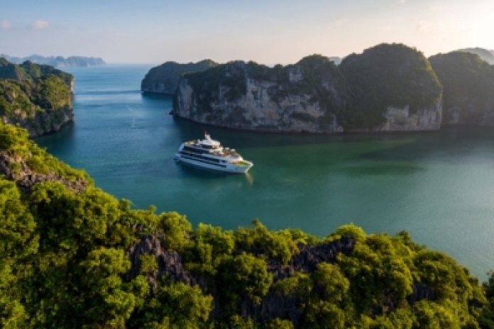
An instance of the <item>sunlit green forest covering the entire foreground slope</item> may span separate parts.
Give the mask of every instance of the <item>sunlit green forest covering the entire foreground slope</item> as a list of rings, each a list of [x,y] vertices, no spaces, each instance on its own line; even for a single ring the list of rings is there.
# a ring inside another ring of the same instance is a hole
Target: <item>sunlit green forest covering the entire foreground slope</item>
[[[494,328],[494,276],[405,231],[192,228],[3,123],[0,174],[2,328]]]

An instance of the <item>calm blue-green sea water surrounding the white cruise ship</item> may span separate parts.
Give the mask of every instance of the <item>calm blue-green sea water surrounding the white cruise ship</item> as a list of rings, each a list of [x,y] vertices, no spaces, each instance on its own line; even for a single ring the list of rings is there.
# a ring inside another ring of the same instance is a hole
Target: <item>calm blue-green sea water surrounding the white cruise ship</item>
[[[325,236],[355,223],[367,233],[408,230],[485,279],[494,268],[494,131],[412,135],[275,135],[204,128],[168,113],[172,99],[139,91],[150,65],[67,69],[75,124],[37,143],[138,208],[178,211],[193,223]],[[137,128],[132,128],[136,126]],[[254,162],[222,176],[172,160],[204,130]]]

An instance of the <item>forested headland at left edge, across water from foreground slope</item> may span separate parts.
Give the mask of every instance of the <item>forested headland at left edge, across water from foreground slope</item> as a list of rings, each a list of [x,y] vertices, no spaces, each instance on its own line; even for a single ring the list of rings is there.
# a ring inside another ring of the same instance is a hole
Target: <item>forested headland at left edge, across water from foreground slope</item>
[[[0,118],[31,136],[56,131],[72,120],[74,77],[48,65],[16,65],[0,57]]]

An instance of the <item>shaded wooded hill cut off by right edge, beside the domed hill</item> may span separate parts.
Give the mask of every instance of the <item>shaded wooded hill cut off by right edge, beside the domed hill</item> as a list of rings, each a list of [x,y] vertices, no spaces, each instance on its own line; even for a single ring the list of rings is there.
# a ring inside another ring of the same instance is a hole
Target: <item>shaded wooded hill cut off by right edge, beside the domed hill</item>
[[[494,66],[469,52],[429,57],[444,86],[444,123],[494,124]]]

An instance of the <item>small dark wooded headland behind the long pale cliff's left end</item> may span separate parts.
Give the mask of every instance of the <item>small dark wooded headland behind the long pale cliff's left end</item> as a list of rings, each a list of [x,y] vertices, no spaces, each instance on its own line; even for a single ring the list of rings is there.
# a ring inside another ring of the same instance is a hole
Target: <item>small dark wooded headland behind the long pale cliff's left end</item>
[[[141,82],[141,91],[160,94],[173,94],[177,89],[178,79],[185,72],[200,72],[217,64],[212,60],[202,60],[197,63],[179,64],[177,62],[165,62],[153,67]]]

